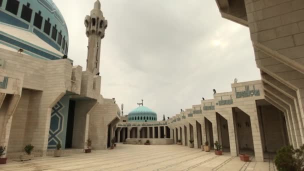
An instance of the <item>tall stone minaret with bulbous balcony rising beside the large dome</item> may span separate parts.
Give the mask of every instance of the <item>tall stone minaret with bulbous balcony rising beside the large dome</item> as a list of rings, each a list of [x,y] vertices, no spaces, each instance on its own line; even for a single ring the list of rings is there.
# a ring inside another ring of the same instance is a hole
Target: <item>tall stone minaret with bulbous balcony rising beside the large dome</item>
[[[90,16],[85,16],[84,25],[88,37],[86,70],[96,75],[99,72],[101,39],[107,27],[107,20],[102,15],[99,0],[95,1]]]

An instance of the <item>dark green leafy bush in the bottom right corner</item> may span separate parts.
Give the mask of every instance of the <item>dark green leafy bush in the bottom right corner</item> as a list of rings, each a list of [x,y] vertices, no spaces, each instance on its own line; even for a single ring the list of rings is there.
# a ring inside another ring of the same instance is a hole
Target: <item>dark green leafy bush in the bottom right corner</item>
[[[304,145],[294,149],[288,145],[276,151],[274,164],[278,171],[304,170]]]

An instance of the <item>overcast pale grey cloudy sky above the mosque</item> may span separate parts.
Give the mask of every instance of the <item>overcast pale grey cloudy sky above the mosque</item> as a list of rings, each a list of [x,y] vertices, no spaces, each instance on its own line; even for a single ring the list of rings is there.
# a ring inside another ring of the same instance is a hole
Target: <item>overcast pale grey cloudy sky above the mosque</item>
[[[67,23],[68,57],[85,67],[83,24],[95,0],[53,0]],[[247,27],[221,18],[214,0],[101,0],[108,21],[101,46],[101,94],[144,105],[158,119],[260,79]]]

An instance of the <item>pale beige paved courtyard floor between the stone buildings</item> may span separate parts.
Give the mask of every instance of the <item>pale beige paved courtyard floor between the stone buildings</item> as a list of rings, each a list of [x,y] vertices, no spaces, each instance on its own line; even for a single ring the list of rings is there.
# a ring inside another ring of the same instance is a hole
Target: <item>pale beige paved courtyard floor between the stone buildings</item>
[[[218,156],[181,145],[117,144],[112,150],[61,157],[36,157],[29,161],[8,161],[3,170],[275,170],[271,160],[243,162],[229,153]]]

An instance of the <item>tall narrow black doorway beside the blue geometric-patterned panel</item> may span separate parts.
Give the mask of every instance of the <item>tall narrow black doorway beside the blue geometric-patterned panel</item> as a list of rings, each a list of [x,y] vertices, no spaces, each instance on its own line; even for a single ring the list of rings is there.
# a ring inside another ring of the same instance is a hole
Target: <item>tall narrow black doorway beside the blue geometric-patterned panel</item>
[[[65,135],[65,148],[71,148],[72,147],[74,114],[75,114],[74,111],[75,111],[75,101],[74,100],[69,100],[67,125],[66,125],[66,135]]]

